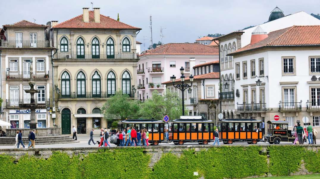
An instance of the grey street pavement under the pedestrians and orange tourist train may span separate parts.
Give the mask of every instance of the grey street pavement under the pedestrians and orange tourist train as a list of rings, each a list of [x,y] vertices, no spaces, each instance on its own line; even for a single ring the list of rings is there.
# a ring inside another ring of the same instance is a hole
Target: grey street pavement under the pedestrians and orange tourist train
[[[91,142],[91,145],[88,145],[88,141],[90,139],[89,134],[78,134],[77,135],[77,139],[78,139],[78,143],[71,143],[71,144],[52,144],[52,145],[36,145],[36,148],[68,148],[68,147],[97,147],[98,148],[98,144],[93,145]],[[96,142],[100,139],[99,135],[94,135],[93,136],[93,140]],[[109,138],[110,139],[110,138]],[[212,145],[213,142],[210,142],[208,145]],[[233,144],[238,144],[238,145],[249,145],[246,142],[235,142]],[[270,145],[268,142],[258,142],[258,144],[260,145]],[[291,144],[292,142],[281,142],[280,144]],[[304,144],[308,144],[308,140],[307,143]],[[320,139],[317,139],[317,144],[320,144]],[[27,144],[24,144],[28,146]],[[110,144],[111,146],[116,146],[115,144]],[[170,143],[160,143],[159,145],[174,145],[172,142]],[[196,142],[193,143],[185,143],[184,145],[199,145]],[[217,145],[217,144],[216,144]],[[222,142],[220,142],[220,145],[225,145]],[[275,145],[275,144],[273,144]],[[7,149],[7,148],[15,148],[16,146],[13,145],[0,145],[0,149]]]

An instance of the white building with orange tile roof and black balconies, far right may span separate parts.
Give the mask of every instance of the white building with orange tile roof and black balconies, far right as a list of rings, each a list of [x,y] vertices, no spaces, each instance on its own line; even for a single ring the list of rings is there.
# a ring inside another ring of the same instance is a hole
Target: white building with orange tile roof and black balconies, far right
[[[240,69],[235,83],[237,117],[268,121],[278,115],[292,129],[306,116],[320,129],[319,25],[260,31],[230,55]]]

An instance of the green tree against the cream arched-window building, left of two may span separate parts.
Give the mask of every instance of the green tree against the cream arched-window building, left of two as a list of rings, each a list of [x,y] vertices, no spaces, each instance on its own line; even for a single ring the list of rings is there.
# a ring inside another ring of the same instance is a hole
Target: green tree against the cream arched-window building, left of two
[[[106,101],[102,107],[102,114],[107,120],[124,120],[129,116],[137,116],[139,111],[138,100],[131,100],[127,94],[122,91],[116,91],[115,95]]]

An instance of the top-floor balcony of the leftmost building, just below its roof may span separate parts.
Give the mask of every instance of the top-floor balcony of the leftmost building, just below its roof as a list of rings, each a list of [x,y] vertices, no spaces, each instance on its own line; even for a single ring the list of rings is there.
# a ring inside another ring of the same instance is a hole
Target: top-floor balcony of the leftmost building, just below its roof
[[[10,48],[48,48],[50,41],[0,41],[1,47]]]

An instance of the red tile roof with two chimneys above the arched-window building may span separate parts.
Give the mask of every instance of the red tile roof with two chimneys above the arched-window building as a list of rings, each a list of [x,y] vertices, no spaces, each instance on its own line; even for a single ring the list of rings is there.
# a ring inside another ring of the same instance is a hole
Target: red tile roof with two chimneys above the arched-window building
[[[100,14],[100,23],[94,22],[94,12],[89,11],[89,22],[83,21],[83,14],[69,19],[67,21],[61,22],[53,26],[53,28],[60,29],[137,29],[141,30],[139,27],[130,26],[123,22],[117,21],[110,17]]]

